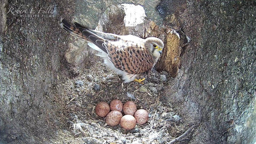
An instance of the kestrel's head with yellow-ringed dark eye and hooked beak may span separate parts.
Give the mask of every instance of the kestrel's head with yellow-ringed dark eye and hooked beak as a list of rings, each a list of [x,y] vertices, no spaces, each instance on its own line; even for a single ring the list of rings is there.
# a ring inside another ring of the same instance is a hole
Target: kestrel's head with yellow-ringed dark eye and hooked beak
[[[148,37],[145,40],[146,40],[145,47],[152,54],[152,56],[154,56],[154,58],[157,61],[164,48],[163,41],[156,37]]]

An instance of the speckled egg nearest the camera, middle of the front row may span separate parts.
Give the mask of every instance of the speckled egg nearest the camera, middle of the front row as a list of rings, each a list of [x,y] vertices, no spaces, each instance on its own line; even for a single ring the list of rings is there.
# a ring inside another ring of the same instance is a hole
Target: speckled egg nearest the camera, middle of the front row
[[[121,118],[120,125],[122,128],[125,128],[125,130],[131,130],[136,126],[136,120],[134,116],[125,115]]]

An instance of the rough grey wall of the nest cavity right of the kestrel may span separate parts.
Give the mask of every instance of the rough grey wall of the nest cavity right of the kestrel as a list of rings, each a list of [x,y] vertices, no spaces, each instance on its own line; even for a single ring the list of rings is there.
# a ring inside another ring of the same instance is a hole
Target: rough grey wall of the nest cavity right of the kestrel
[[[175,110],[184,106],[179,111],[201,123],[191,143],[254,143],[255,2],[191,1],[187,7],[179,21],[192,41],[162,101]]]

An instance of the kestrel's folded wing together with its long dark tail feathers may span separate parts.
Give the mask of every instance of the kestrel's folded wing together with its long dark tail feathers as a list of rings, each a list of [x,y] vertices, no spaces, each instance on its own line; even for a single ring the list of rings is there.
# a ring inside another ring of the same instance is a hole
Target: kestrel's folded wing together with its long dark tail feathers
[[[78,23],[72,26],[65,19],[62,19],[61,26],[66,31],[95,44],[108,54],[110,61],[121,71],[136,75],[149,71],[154,64],[154,59],[139,37],[103,33],[82,27]]]

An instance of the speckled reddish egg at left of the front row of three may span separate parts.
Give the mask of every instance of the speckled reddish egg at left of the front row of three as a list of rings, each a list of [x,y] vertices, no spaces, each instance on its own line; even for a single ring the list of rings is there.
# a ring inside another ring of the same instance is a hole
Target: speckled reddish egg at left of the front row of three
[[[122,118],[122,113],[120,111],[114,110],[107,114],[106,123],[109,126],[119,125]]]

